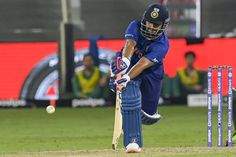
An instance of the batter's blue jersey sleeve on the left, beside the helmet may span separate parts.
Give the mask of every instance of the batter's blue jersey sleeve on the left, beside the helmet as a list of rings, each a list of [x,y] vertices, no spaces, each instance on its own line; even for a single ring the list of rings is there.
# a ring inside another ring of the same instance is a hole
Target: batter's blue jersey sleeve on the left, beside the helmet
[[[134,20],[130,22],[128,25],[126,31],[125,31],[125,39],[132,39],[134,41],[138,41],[138,33],[139,33],[139,28],[138,28],[139,21]]]

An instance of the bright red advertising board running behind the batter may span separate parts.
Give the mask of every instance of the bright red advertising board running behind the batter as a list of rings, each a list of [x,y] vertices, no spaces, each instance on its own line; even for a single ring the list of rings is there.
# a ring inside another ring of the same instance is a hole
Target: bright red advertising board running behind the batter
[[[123,43],[123,40],[101,40],[98,41],[98,46],[115,53],[120,50]],[[231,57],[235,53],[236,39],[205,39],[204,43],[194,45],[187,45],[185,39],[171,39],[170,44],[170,52],[165,60],[165,72],[170,77],[175,76],[179,67],[185,66],[184,53],[187,50],[196,52],[196,66],[199,69],[207,70],[209,65],[217,64],[236,66],[235,58]],[[88,47],[89,41],[87,40],[75,42],[76,50]],[[27,76],[37,64],[43,62],[45,58],[56,54],[57,49],[56,42],[1,43],[0,71],[2,76],[0,77],[0,99],[19,99]],[[226,52],[227,55],[225,55]],[[173,63],[175,66],[173,66]],[[234,85],[235,81],[234,79]],[[226,83],[224,87],[227,87]],[[48,90],[50,89],[48,88]],[[55,92],[48,91],[48,94],[56,94]]]

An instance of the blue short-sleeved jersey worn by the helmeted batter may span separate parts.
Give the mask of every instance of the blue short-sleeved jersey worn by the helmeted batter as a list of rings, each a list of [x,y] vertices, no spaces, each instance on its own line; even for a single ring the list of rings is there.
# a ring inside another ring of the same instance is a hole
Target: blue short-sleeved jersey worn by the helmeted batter
[[[135,65],[140,58],[145,56],[154,65],[143,71],[143,74],[155,73],[155,75],[162,79],[164,76],[163,60],[169,49],[169,40],[165,33],[155,39],[147,40],[140,33],[140,20],[132,21],[125,32],[125,39],[132,39],[136,41],[134,54],[131,58],[131,67]]]

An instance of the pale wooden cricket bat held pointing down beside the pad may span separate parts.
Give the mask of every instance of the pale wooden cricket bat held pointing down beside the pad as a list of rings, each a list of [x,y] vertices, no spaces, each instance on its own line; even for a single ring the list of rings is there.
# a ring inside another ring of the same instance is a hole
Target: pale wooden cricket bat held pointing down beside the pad
[[[121,75],[117,76],[117,80],[121,78]],[[121,114],[121,89],[122,86],[117,85],[116,87],[116,106],[115,106],[115,121],[114,131],[112,138],[112,149],[116,150],[120,135],[122,133],[122,114]]]

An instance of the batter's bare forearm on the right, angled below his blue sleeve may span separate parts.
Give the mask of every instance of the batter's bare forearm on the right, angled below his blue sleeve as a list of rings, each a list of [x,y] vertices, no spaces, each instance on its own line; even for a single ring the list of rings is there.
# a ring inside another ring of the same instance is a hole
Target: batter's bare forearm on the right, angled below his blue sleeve
[[[153,66],[154,63],[148,60],[146,57],[142,57],[129,71],[128,75],[130,79],[134,79],[139,74],[143,72],[143,70]]]

